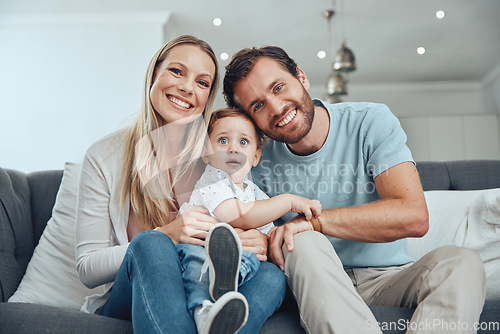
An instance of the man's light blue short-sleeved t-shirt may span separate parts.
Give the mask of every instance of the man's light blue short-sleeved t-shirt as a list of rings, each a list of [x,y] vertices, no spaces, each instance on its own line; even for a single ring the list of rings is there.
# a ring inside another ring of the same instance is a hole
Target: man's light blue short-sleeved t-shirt
[[[317,199],[323,209],[350,207],[379,200],[374,178],[400,163],[411,161],[406,134],[383,104],[338,103],[326,107],[330,129],[317,152],[298,156],[286,144],[271,140],[253,181],[270,197],[292,193]],[[283,216],[277,224],[293,218]],[[327,236],[328,237],[328,236]],[[328,237],[344,267],[387,267],[413,261],[406,239],[363,243]]]

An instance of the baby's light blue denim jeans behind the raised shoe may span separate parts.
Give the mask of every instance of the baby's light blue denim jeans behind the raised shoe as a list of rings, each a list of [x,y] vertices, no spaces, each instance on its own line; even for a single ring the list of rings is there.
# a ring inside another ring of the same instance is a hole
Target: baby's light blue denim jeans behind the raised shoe
[[[204,300],[212,300],[209,293],[208,271],[201,275],[203,263],[208,258],[205,247],[190,244],[176,245],[181,261],[182,280],[187,295],[187,307],[193,315],[196,306],[200,306]],[[241,265],[238,286],[248,282],[259,271],[260,261],[253,253],[241,252]]]

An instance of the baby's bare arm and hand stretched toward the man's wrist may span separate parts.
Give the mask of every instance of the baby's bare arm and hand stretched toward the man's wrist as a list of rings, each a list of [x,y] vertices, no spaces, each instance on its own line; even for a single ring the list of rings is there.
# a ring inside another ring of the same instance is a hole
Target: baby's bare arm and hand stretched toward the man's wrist
[[[306,219],[319,216],[321,204],[316,200],[281,194],[272,198],[243,203],[239,199],[230,198],[223,201],[214,210],[214,214],[223,222],[244,230],[264,226],[289,211],[303,213]]]

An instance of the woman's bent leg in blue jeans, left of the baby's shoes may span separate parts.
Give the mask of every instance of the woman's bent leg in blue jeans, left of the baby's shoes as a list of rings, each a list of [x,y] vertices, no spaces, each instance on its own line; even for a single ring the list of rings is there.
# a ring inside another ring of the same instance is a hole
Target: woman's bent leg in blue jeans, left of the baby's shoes
[[[132,320],[136,333],[196,333],[179,256],[166,234],[146,231],[132,239],[101,314]]]

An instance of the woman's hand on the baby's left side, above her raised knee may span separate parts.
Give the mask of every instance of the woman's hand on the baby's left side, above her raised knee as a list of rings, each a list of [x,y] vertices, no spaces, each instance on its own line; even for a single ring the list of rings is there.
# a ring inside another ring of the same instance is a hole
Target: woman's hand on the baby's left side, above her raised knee
[[[158,231],[168,235],[176,245],[205,246],[205,238],[214,224],[217,224],[217,219],[210,216],[207,209],[196,206],[160,227]]]

